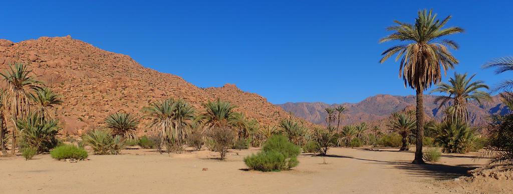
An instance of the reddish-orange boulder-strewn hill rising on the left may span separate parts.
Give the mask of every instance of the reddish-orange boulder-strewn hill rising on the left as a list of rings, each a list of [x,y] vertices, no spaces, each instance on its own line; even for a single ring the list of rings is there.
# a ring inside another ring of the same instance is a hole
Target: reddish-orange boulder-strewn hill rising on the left
[[[101,126],[110,113],[141,115],[140,109],[150,101],[168,97],[181,97],[199,111],[208,100],[228,100],[239,106],[235,111],[264,124],[276,124],[287,117],[266,98],[241,91],[234,84],[201,89],[179,76],[145,68],[130,56],[98,49],[71,36],[15,43],[0,39],[0,67],[6,69],[13,62],[28,64],[47,87],[64,96],[64,103],[55,107],[54,114],[70,134],[80,135]],[[141,124],[140,133],[146,132]]]

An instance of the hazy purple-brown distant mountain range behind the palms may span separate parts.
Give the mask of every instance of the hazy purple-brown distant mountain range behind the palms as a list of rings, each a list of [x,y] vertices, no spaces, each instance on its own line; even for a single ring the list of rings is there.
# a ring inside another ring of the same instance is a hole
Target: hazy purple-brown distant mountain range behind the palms
[[[438,109],[438,104],[433,101],[437,96],[424,95],[424,111],[428,117],[441,120],[443,117],[443,106]],[[409,96],[392,96],[388,94],[378,94],[368,97],[358,103],[342,103],[342,104],[326,104],[323,102],[287,102],[284,104],[276,104],[287,112],[293,112],[294,116],[304,118],[316,124],[326,125],[327,107],[336,107],[344,105],[348,111],[345,112],[346,119],[341,124],[352,124],[362,121],[383,120],[390,116],[393,112],[402,111],[408,105],[415,105],[416,97]],[[499,99],[499,96],[492,96],[492,101],[484,102],[480,105],[477,101],[469,101],[467,105],[469,111],[469,120],[472,124],[485,123],[488,116],[492,114],[505,114],[510,110],[505,107]]]

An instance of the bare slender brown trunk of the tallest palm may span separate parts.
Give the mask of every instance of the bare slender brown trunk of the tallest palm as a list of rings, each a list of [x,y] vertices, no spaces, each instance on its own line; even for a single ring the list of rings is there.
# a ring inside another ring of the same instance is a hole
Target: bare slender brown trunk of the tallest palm
[[[415,159],[413,164],[425,164],[422,159],[422,140],[424,139],[424,99],[422,99],[422,89],[417,89],[417,145],[415,149]]]

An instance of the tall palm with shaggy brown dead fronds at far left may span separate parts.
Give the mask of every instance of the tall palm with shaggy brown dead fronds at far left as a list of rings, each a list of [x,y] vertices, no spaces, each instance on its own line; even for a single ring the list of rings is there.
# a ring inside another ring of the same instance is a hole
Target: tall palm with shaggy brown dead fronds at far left
[[[42,82],[30,76],[32,70],[29,70],[23,63],[15,63],[14,66],[9,66],[9,68],[10,71],[5,71],[0,75],[4,77],[9,87],[4,98],[4,105],[11,112],[15,124],[18,118],[28,115],[30,111],[30,90],[40,89],[37,84]],[[16,150],[16,131],[12,130],[12,154]]]

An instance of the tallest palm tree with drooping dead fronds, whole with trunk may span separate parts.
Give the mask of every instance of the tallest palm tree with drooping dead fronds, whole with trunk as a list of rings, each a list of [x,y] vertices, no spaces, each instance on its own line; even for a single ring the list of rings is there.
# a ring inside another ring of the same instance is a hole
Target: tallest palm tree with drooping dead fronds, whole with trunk
[[[392,40],[407,41],[407,44],[396,45],[385,50],[381,55],[380,62],[394,54],[397,54],[396,61],[401,58],[399,64],[399,77],[403,78],[404,86],[409,85],[417,93],[417,148],[415,159],[412,163],[424,164],[422,159],[422,140],[424,139],[424,101],[422,93],[431,84],[441,81],[442,69],[452,69],[459,61],[449,52],[448,48],[457,50],[459,48],[455,41],[441,39],[444,36],[463,32],[459,27],[442,29],[451,16],[442,21],[436,19],[437,14],[432,10],[419,11],[415,24],[394,21],[397,25],[387,28],[388,31],[395,31],[392,34],[381,38],[381,42]]]

